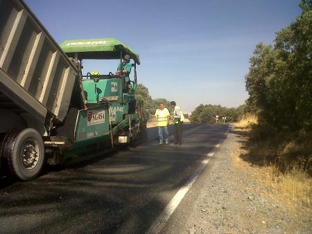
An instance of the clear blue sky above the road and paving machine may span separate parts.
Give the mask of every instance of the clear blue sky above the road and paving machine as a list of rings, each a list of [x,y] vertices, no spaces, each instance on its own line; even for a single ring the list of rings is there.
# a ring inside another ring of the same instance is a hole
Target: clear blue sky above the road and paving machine
[[[153,98],[237,107],[259,42],[300,15],[295,0],[26,0],[56,42],[115,37],[140,55],[138,80]],[[118,61],[85,61],[87,71],[114,72]]]

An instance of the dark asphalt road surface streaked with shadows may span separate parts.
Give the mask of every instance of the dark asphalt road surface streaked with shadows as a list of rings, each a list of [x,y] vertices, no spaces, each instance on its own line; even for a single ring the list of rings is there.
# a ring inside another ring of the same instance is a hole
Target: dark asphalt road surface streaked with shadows
[[[152,128],[115,156],[26,183],[0,179],[0,233],[146,233],[227,130],[184,125],[182,145],[158,145]]]

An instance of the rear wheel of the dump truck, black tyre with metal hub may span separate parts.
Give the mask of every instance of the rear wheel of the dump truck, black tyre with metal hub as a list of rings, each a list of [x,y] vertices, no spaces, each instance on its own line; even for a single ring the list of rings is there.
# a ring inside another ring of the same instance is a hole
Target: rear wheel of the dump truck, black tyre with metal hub
[[[44,165],[44,143],[35,129],[15,129],[4,140],[3,156],[13,176],[21,181],[37,177]]]

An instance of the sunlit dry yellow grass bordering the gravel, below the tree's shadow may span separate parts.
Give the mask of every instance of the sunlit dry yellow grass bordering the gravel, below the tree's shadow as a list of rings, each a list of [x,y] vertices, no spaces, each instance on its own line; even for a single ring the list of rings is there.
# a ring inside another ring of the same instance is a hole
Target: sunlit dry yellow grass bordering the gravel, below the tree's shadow
[[[231,156],[234,167],[255,174],[258,183],[270,188],[266,192],[267,197],[292,208],[299,204],[312,208],[312,178],[303,164],[288,166],[288,169],[281,173],[277,163],[264,162],[263,166],[259,166],[244,161],[248,153],[248,150],[233,152]]]

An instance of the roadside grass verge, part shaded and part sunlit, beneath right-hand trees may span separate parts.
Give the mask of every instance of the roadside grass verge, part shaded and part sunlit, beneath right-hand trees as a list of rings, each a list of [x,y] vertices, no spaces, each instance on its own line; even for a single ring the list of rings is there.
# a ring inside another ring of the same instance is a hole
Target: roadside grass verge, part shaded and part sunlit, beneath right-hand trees
[[[304,140],[288,141],[281,136],[254,140],[257,117],[244,116],[239,129],[243,146],[232,154],[239,170],[253,170],[257,181],[270,188],[267,195],[288,206],[312,208],[312,147]],[[251,140],[252,138],[252,140]],[[310,144],[312,145],[312,144]]]

